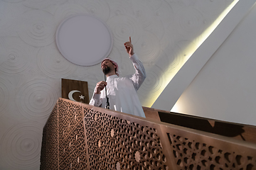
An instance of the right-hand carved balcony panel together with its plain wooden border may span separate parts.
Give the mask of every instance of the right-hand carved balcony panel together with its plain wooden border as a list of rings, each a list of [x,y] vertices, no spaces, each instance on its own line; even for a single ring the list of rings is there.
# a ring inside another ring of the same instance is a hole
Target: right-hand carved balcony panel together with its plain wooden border
[[[188,132],[175,132],[168,128],[171,154],[174,156],[177,169],[256,169],[255,145],[240,145],[238,140],[223,141]]]

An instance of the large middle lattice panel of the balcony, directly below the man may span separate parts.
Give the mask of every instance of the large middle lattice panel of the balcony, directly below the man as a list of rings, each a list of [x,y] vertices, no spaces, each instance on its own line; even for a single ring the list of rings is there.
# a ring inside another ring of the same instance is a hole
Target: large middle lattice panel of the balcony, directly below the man
[[[84,111],[91,169],[167,169],[155,128]]]

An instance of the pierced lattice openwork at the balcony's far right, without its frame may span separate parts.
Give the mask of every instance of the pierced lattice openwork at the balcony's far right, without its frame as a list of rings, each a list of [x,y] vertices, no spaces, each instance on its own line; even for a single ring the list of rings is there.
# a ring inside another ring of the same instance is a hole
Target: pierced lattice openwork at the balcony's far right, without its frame
[[[221,146],[218,142],[209,145],[200,138],[192,140],[181,135],[167,135],[174,159],[180,169],[251,170],[252,167],[256,167],[255,157],[245,154],[245,150],[241,148],[225,147],[228,143],[220,142]]]

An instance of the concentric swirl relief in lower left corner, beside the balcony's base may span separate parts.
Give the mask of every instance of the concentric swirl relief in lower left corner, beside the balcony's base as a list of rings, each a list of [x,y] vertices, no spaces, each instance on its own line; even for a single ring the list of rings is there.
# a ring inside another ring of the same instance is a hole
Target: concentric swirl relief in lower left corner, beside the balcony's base
[[[1,139],[1,158],[12,169],[38,169],[42,127],[38,122],[19,123]]]

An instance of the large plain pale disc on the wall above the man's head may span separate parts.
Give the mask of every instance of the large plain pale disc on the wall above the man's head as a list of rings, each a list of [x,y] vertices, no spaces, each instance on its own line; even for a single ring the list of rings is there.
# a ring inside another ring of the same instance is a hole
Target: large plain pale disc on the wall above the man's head
[[[56,43],[68,61],[80,66],[92,66],[110,55],[113,40],[109,28],[99,18],[81,14],[60,23]]]

